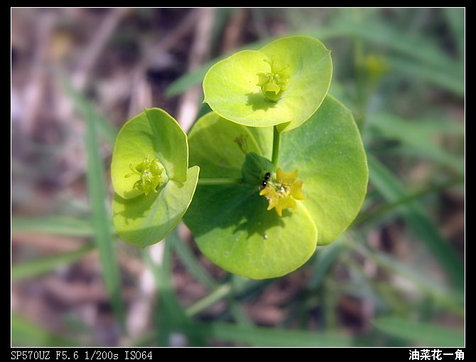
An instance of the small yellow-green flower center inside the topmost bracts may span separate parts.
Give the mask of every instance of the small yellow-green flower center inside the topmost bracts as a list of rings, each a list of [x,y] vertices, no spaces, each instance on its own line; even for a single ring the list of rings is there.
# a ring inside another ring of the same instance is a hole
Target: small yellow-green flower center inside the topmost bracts
[[[274,63],[274,56],[271,57],[271,61],[264,59],[264,62],[267,62],[271,67],[271,72],[269,73],[258,73],[258,85],[261,87],[261,92],[263,92],[264,98],[269,102],[276,102],[281,98],[281,94],[286,90],[286,86],[289,82],[289,74],[286,72],[289,65],[284,66],[281,69],[276,69]]]

